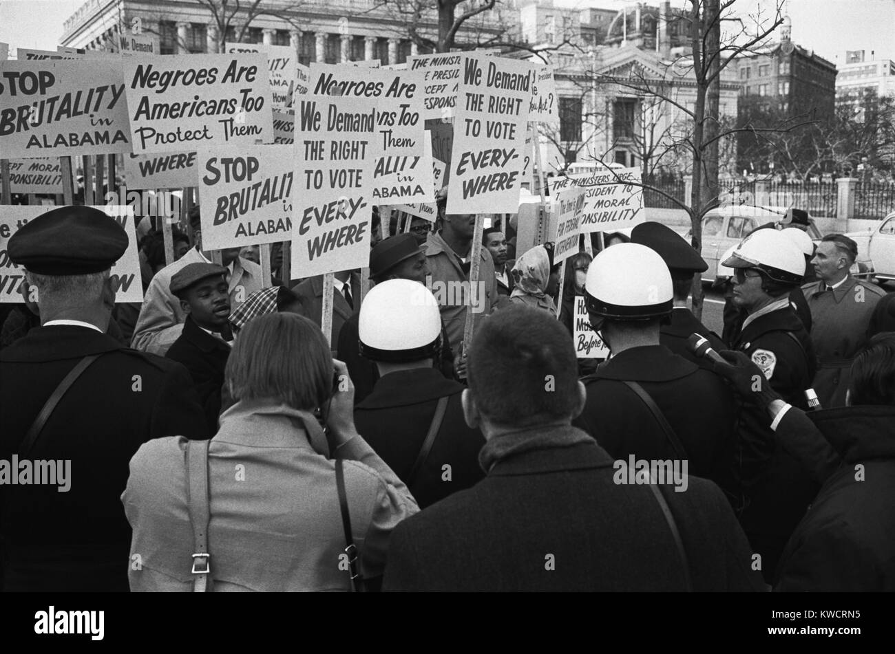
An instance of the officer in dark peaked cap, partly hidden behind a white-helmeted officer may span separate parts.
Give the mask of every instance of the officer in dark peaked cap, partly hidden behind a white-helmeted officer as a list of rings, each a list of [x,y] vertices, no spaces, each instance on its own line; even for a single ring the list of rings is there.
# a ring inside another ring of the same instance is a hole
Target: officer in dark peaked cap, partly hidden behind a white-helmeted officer
[[[687,298],[690,297],[693,276],[707,271],[709,264],[677,231],[661,222],[641,222],[631,231],[631,242],[655,250],[669,267],[671,274],[674,306],[671,307],[669,322],[662,323],[659,327],[659,342],[676,355],[690,359],[697,365],[708,366],[709,363],[704,358],[695,356],[687,345],[690,335],[696,333],[705,337],[716,350],[726,348],[718,334],[696,320],[687,306]]]

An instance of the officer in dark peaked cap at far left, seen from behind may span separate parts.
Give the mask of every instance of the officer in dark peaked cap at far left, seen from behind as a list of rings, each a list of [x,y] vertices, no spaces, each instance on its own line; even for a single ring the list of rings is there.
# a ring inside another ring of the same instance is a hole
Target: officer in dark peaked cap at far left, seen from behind
[[[4,591],[127,591],[120,497],[131,457],[150,439],[209,435],[182,365],[105,333],[109,269],[127,244],[87,206],[57,207],[9,240],[37,289],[41,326],[0,352],[0,459],[19,468],[15,485],[0,485]],[[38,462],[55,482],[23,476]]]

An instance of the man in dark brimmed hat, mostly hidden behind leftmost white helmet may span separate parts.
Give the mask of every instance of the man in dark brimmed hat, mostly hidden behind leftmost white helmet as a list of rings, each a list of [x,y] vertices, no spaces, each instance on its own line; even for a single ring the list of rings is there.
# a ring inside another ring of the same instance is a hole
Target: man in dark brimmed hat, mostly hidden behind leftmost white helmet
[[[370,251],[370,279],[379,284],[386,280],[412,280],[426,283],[430,274],[429,259],[425,245],[420,245],[413,234],[397,234],[380,241]],[[337,358],[348,366],[348,374],[354,382],[354,404],[370,395],[373,385],[379,379],[376,365],[361,356],[359,349],[359,318],[355,312],[339,332]],[[447,332],[443,332],[443,346],[435,367],[447,377],[454,378],[454,354],[447,341]]]

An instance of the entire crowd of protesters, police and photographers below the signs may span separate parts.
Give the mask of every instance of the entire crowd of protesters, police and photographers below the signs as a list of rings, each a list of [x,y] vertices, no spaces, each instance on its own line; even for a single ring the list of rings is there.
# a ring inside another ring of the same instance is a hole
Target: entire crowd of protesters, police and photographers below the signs
[[[658,222],[563,263],[491,227],[470,283],[442,198],[371,242],[370,288],[335,273],[328,334],[321,276],[215,263],[190,222],[172,263],[142,236],[139,306],[97,209],[9,240],[4,590],[895,590],[895,294],[805,212],[721,258],[720,335]],[[606,360],[575,355],[578,297]],[[63,461],[64,492],[22,479]]]

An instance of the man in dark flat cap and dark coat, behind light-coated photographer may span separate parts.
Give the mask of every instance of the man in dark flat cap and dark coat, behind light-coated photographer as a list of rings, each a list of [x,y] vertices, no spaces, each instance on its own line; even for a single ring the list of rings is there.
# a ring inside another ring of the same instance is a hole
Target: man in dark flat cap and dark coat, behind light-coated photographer
[[[180,300],[186,321],[165,356],[183,364],[190,373],[205,409],[209,433],[217,432],[224,369],[233,343],[227,322],[230,298],[225,273],[221,265],[189,264],[171,278],[171,293]]]

